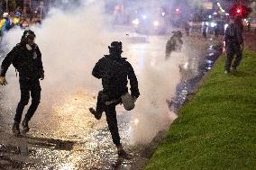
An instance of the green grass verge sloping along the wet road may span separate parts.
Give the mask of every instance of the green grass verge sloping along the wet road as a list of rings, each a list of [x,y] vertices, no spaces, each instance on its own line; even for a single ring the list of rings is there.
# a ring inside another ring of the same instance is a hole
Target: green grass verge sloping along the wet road
[[[145,170],[256,169],[256,53],[245,49],[238,73],[222,56],[184,105]]]

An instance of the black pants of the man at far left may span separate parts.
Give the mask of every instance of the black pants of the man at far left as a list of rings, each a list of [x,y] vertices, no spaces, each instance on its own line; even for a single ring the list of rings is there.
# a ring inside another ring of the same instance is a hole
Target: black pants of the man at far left
[[[18,103],[14,121],[21,122],[24,107],[29,103],[30,93],[32,96],[32,104],[25,115],[25,119],[30,121],[36,111],[41,99],[41,86],[38,79],[28,79],[20,77],[21,100]]]

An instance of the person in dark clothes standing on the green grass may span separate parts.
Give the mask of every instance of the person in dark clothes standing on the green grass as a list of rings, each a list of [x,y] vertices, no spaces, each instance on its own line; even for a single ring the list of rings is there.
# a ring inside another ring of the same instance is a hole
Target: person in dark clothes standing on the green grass
[[[224,74],[232,71],[236,72],[237,67],[242,61],[242,24],[241,19],[238,17],[232,17],[229,25],[227,26],[224,34],[226,60],[224,65]],[[233,61],[234,55],[236,56]]]

